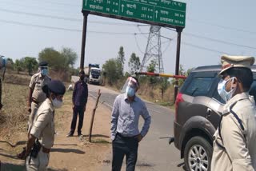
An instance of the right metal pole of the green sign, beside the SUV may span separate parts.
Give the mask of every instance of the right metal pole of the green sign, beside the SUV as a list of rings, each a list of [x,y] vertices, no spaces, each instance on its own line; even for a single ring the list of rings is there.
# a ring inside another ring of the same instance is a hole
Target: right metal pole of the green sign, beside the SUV
[[[178,75],[179,70],[179,57],[180,57],[180,50],[181,50],[181,39],[182,39],[182,27],[177,27],[176,31],[178,32],[177,38],[177,51],[176,51],[176,68],[175,68],[175,75]],[[178,78],[175,78],[175,85],[174,85],[174,102],[176,101],[176,97],[178,94]]]

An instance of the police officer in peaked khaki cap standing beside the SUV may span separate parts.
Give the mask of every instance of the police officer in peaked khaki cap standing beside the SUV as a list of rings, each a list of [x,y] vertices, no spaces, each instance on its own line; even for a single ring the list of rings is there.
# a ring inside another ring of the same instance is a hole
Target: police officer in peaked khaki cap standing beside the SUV
[[[222,56],[218,93],[226,105],[214,133],[212,171],[256,169],[256,107],[248,94],[253,64],[253,57]]]

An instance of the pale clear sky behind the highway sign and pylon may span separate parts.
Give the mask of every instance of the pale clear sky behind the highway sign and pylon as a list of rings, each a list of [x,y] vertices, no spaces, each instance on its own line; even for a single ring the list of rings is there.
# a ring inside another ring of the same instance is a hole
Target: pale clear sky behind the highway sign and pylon
[[[216,65],[222,54],[256,56],[255,0],[190,0],[182,32],[180,64],[187,70]],[[0,54],[18,59],[38,58],[46,47],[70,47],[78,54],[82,42],[82,0],[0,0]],[[85,66],[116,58],[124,47],[126,63],[133,52],[142,62],[150,26],[89,15]],[[134,35],[136,34],[136,35]],[[161,29],[162,59],[174,74],[177,34]],[[127,64],[126,68],[127,70]]]

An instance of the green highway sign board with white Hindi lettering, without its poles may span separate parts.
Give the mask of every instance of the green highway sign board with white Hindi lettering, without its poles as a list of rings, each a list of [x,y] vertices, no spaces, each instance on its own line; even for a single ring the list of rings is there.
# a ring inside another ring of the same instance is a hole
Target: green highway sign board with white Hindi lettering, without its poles
[[[129,20],[185,27],[186,3],[171,0],[83,0],[82,10]]]

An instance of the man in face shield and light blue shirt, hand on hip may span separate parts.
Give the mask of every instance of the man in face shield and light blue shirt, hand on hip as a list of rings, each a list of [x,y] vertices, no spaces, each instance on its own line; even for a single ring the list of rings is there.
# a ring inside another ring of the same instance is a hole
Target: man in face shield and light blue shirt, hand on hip
[[[138,79],[127,79],[126,93],[114,100],[111,119],[111,140],[113,149],[112,171],[120,171],[126,155],[126,171],[134,171],[138,157],[138,143],[150,129],[151,117],[144,101],[135,95]],[[138,130],[138,120],[142,116],[144,125]]]

